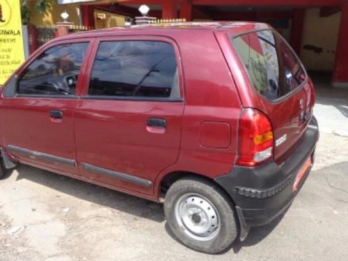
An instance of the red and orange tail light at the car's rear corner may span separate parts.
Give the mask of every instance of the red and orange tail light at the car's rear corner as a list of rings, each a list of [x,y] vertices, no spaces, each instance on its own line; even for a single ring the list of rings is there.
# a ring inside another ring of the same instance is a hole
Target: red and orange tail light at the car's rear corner
[[[237,165],[256,166],[273,157],[273,129],[261,111],[244,109],[239,118]]]

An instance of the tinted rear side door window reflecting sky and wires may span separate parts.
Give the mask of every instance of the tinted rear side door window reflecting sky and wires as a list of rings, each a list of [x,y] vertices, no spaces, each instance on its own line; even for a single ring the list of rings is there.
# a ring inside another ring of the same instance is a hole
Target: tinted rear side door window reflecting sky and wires
[[[172,89],[177,89],[177,64],[170,44],[157,41],[100,44],[90,75],[89,95],[170,97]]]

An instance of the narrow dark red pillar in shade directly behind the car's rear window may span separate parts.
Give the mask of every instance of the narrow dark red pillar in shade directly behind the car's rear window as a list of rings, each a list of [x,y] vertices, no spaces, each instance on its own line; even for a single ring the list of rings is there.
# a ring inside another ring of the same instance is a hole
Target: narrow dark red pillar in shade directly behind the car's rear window
[[[290,45],[298,55],[301,52],[305,13],[304,9],[296,9],[294,10],[294,17],[292,18]]]

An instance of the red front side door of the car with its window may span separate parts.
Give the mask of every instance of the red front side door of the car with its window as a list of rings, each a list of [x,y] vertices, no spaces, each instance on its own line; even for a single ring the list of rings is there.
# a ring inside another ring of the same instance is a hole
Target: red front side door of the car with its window
[[[78,174],[74,146],[75,90],[89,42],[47,47],[4,90],[3,146],[27,164]]]

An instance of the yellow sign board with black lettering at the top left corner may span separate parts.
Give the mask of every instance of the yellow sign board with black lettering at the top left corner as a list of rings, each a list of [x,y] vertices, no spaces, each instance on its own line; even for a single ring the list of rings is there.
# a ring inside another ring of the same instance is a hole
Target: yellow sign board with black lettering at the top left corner
[[[0,84],[24,62],[20,0],[0,0]]]

